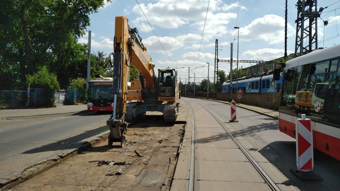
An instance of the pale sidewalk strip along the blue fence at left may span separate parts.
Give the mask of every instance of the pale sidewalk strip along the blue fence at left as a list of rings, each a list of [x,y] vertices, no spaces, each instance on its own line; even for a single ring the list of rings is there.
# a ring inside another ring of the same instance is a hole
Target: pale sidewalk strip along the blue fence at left
[[[14,109],[14,110],[0,110],[0,118],[5,117],[19,117],[19,116],[35,116],[35,115],[51,115],[64,114],[86,111],[87,105],[68,105],[57,106],[55,108],[39,108],[39,109]]]

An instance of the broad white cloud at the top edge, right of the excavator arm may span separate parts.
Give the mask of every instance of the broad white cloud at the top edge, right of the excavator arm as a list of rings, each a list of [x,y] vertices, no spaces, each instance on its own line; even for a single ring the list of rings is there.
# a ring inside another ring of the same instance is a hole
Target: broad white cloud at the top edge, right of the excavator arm
[[[235,3],[226,5],[222,0],[210,1],[207,24],[211,27],[217,27],[215,24],[224,25],[227,24],[230,19],[236,18],[235,13],[213,14],[214,11],[220,10],[221,7],[223,7],[222,9],[224,9],[224,11],[234,8],[234,4]],[[199,27],[199,30],[202,31],[208,3],[206,0],[159,0],[155,3],[141,3],[139,5],[153,27],[158,26],[164,29],[176,29],[189,24],[194,27]],[[245,9],[244,6],[240,6],[240,8]],[[140,15],[140,17],[132,21],[134,25],[140,28],[142,23],[147,23],[138,5],[135,5],[132,11]],[[216,30],[223,29],[225,29],[225,27]]]

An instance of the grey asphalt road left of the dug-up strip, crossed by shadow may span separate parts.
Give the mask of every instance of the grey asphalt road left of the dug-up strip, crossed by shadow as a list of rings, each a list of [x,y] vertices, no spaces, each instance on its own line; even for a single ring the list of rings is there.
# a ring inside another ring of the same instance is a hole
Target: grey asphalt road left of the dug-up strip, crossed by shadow
[[[0,175],[58,158],[84,144],[82,140],[108,130],[109,116],[82,112],[1,119]]]

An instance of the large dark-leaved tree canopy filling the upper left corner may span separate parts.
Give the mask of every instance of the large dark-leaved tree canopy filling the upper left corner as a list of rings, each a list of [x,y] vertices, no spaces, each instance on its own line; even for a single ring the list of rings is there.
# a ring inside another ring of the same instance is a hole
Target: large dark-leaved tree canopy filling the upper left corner
[[[39,67],[59,63],[64,44],[84,35],[88,15],[103,5],[104,0],[1,0],[1,76],[20,76],[14,81],[24,83]]]

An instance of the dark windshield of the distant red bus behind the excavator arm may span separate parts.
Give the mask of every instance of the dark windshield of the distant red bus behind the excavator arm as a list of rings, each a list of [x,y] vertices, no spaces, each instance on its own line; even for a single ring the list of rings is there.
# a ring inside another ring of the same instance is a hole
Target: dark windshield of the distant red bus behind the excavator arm
[[[88,99],[113,99],[112,84],[110,83],[89,83]]]

